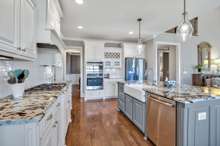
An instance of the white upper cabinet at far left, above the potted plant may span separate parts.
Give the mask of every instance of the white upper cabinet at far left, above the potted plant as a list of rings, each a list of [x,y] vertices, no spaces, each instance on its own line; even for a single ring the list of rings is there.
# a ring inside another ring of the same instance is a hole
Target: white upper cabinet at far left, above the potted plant
[[[34,59],[34,3],[31,0],[0,1],[0,19],[0,51],[10,57]]]

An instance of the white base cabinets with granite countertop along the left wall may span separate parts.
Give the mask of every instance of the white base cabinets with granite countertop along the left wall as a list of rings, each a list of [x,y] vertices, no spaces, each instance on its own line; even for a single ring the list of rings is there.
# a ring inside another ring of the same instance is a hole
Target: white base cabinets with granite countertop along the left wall
[[[43,84],[20,100],[0,100],[1,146],[64,146],[72,108],[71,83]]]

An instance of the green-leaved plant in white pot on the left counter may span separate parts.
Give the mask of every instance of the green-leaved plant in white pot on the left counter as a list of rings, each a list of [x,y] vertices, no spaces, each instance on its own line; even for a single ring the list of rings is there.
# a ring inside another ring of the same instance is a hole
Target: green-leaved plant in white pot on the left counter
[[[8,84],[11,86],[12,95],[15,99],[23,97],[25,80],[28,76],[28,70],[16,69],[8,72]]]

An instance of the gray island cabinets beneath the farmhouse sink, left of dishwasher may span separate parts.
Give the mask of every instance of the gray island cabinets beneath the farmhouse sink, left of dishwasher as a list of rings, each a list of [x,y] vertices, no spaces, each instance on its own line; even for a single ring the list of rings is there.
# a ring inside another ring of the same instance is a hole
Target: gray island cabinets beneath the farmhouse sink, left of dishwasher
[[[124,83],[122,82],[118,82],[118,108],[141,132],[145,133],[146,102],[124,93]]]

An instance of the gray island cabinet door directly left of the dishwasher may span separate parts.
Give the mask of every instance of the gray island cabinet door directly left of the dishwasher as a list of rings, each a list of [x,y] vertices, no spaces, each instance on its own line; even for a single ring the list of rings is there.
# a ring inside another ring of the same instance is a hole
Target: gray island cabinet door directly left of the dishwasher
[[[142,132],[145,131],[145,103],[133,100],[133,121]]]

